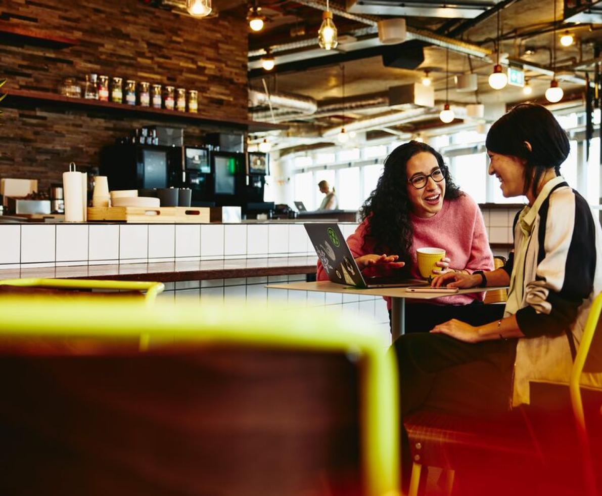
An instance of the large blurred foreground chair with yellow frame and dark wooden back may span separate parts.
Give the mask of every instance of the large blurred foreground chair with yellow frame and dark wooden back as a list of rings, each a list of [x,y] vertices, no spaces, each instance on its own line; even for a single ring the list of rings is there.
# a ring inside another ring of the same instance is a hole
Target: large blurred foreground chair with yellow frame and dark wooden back
[[[0,315],[0,494],[399,494],[396,360],[357,319],[221,299]]]

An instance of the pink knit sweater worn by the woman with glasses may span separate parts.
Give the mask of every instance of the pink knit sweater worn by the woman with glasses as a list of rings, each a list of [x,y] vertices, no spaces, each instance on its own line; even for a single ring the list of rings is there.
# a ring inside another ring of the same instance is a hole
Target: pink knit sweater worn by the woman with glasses
[[[485,231],[483,215],[474,199],[464,194],[457,199],[443,201],[438,213],[428,219],[411,214],[414,226],[414,241],[411,249],[411,277],[420,278],[416,262],[417,248],[433,246],[444,248],[445,256],[451,260],[452,269],[462,269],[470,273],[478,270],[493,270],[493,255],[489,248],[489,240]],[[367,219],[362,222],[351,236],[347,244],[354,258],[374,252],[374,242],[368,239],[364,246],[364,237],[368,225]],[[387,253],[394,255],[394,253]],[[328,275],[318,260],[318,281],[328,280]],[[427,303],[466,305],[474,300],[483,300],[483,292],[464,295],[450,295],[428,300]],[[387,308],[391,308],[391,299],[385,298]]]

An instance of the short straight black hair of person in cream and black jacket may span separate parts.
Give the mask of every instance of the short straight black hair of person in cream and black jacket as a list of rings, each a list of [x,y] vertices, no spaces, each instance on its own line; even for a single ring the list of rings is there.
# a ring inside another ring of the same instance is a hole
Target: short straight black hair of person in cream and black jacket
[[[530,150],[525,142],[531,145]],[[533,103],[517,105],[495,121],[485,146],[494,153],[526,161],[524,193],[531,188],[533,196],[548,169],[553,168],[560,175],[560,165],[571,149],[565,130],[552,113]]]

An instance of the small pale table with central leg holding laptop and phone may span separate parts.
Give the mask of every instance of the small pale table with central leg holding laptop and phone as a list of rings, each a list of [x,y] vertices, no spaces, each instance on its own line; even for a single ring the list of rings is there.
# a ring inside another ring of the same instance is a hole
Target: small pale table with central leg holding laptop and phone
[[[297,289],[302,291],[320,291],[325,293],[342,293],[352,295],[373,295],[381,297],[391,297],[391,333],[393,341],[405,333],[405,302],[406,298],[411,300],[432,300],[451,295],[461,295],[465,293],[478,293],[494,289],[504,289],[504,286],[495,287],[471,287],[470,289],[461,289],[457,293],[411,293],[405,287],[378,287],[375,289],[361,289],[355,286],[346,286],[344,284],[331,283],[330,281],[317,281],[315,283],[284,283],[267,284],[266,287],[275,289]]]

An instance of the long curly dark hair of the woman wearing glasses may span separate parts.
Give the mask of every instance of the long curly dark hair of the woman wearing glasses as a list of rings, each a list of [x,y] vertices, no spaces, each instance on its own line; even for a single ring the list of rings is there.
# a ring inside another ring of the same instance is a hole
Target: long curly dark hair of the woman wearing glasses
[[[374,242],[376,253],[398,255],[399,260],[411,263],[410,250],[414,228],[410,219],[411,203],[408,196],[408,172],[406,165],[420,152],[432,154],[445,177],[445,199],[455,199],[464,195],[453,183],[443,157],[426,143],[410,141],[397,146],[385,159],[385,170],[380,176],[376,189],[370,193],[360,210],[362,221],[368,219],[364,245]]]

